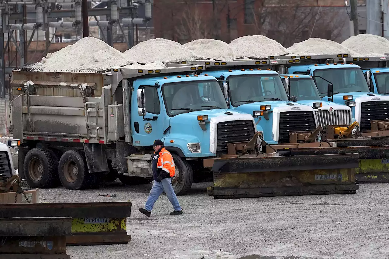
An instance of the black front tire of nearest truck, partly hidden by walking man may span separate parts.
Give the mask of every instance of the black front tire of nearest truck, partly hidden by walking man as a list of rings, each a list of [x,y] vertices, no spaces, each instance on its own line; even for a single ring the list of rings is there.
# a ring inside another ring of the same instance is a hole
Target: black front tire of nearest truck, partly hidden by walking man
[[[192,187],[193,168],[176,154],[172,156],[175,164],[175,175],[172,178],[173,189],[176,195],[185,195]]]

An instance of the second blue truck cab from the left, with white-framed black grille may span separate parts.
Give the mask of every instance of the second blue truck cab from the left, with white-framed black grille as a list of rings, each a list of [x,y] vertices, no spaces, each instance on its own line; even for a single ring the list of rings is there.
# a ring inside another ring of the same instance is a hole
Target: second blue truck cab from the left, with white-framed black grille
[[[217,78],[224,90],[231,110],[252,114],[255,123],[263,129],[263,139],[268,144],[289,143],[291,132],[312,132],[317,119],[311,106],[289,101],[280,75],[270,69],[258,67],[268,61],[210,62],[206,72]],[[262,64],[261,64],[262,63]],[[207,65],[207,64],[205,64]],[[265,64],[263,64],[265,65]],[[241,68],[246,67],[246,68]]]

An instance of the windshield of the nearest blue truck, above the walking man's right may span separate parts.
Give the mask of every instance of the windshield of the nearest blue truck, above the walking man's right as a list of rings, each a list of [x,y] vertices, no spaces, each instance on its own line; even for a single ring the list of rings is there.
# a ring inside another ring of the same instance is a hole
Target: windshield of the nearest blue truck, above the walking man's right
[[[169,116],[196,110],[228,108],[216,80],[164,84],[162,95]]]

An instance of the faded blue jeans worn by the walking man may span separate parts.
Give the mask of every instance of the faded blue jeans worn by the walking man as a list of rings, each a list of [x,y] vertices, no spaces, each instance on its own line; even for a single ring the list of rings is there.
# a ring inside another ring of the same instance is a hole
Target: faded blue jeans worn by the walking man
[[[145,209],[151,212],[154,203],[158,200],[159,195],[161,195],[163,191],[165,191],[170,203],[172,203],[174,210],[182,210],[180,204],[178,203],[177,196],[174,193],[172,179],[170,177],[163,179],[161,182],[154,181],[149,198],[147,198],[146,201]]]

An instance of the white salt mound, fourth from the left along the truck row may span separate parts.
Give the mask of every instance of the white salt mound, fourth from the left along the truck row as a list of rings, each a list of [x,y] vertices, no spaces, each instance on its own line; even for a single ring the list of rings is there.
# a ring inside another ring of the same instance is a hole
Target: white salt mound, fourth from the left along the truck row
[[[289,53],[277,41],[263,35],[243,36],[231,41],[230,46],[239,57],[267,58]]]

